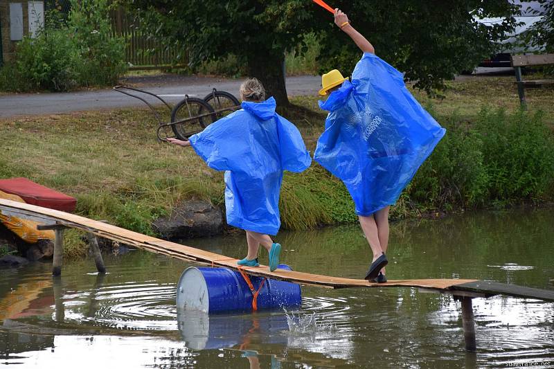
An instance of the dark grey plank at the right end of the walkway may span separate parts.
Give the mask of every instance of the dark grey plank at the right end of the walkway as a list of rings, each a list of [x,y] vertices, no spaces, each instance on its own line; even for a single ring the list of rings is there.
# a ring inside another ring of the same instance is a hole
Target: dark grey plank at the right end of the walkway
[[[506,283],[491,282],[488,280],[476,280],[474,282],[453,285],[451,289],[456,291],[472,291],[481,292],[483,294],[502,294],[514,297],[554,301],[554,291],[548,289],[507,285]]]

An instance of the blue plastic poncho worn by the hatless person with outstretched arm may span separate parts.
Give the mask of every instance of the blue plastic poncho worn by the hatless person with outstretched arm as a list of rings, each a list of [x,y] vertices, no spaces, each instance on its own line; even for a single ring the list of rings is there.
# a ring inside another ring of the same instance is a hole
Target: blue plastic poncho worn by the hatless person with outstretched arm
[[[190,137],[210,168],[225,170],[227,223],[276,235],[283,170],[302,172],[312,159],[298,129],[275,112],[275,100],[242,109]]]

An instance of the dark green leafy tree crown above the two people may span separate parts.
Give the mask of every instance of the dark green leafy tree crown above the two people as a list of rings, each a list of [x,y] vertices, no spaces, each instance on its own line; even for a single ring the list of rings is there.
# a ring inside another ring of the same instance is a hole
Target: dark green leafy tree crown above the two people
[[[349,73],[359,50],[333,24],[330,13],[310,0],[127,0],[156,37],[188,50],[198,64],[230,53],[260,79],[279,104],[287,104],[285,51],[314,30],[323,35],[326,69]],[[332,0],[375,46],[377,55],[431,91],[443,80],[472,69],[493,51],[491,41],[512,29],[517,7],[508,0]],[[486,26],[476,17],[506,17]]]

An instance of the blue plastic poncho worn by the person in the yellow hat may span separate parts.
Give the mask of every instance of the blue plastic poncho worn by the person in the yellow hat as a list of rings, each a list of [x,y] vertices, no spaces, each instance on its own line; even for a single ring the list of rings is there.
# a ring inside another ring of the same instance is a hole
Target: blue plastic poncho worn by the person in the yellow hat
[[[314,159],[343,181],[357,215],[395,204],[445,134],[402,73],[371,53],[319,107],[329,114]]]

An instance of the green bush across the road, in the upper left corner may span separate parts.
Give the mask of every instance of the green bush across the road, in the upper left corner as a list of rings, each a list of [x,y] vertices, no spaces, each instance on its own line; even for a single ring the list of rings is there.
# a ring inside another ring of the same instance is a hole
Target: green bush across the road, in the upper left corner
[[[113,84],[126,70],[125,43],[111,36],[107,0],[71,0],[67,21],[51,10],[46,28],[17,45],[15,62],[0,69],[3,91],[67,91]]]

